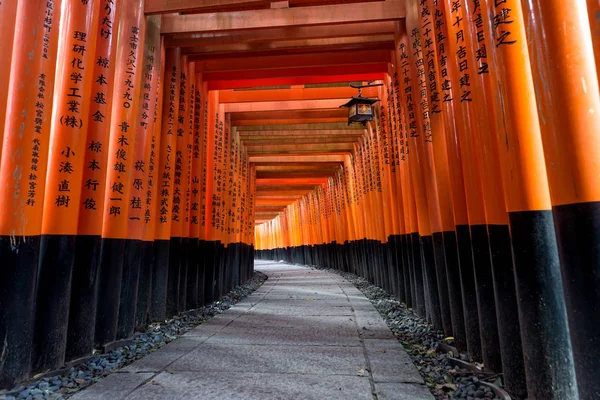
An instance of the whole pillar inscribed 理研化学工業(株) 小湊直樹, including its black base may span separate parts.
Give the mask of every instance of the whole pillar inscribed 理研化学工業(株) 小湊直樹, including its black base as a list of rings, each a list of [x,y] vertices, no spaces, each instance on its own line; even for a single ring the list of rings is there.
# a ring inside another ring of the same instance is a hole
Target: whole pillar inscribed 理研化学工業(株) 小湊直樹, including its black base
[[[86,133],[100,2],[69,0],[60,24],[56,89],[44,193],[33,372],[65,361]],[[58,10],[55,10],[58,12]]]

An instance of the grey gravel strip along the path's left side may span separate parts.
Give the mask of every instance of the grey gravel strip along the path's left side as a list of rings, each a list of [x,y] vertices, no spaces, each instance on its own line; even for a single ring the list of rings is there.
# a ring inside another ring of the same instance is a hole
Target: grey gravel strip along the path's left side
[[[119,347],[107,354],[93,356],[86,362],[71,367],[64,375],[44,377],[21,384],[15,389],[0,393],[0,400],[67,399],[221,314],[258,289],[266,280],[265,274],[255,271],[246,283],[237,286],[218,301],[180,313],[164,323],[151,324],[146,332],[134,335],[131,345]]]

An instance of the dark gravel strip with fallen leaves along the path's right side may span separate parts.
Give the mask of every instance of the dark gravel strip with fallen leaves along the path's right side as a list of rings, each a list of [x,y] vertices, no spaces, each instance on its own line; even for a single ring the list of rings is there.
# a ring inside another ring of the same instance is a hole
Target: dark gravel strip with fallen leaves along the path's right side
[[[485,381],[501,387],[501,374],[491,375],[483,371],[474,373],[454,366],[449,360],[450,355],[439,348],[443,343],[452,345],[452,338],[444,337],[443,332],[436,330],[406,304],[353,273],[315,266],[309,268],[341,275],[371,301],[409,354],[436,399],[500,400],[490,387],[480,382]],[[463,353],[459,358],[463,361],[469,360]]]

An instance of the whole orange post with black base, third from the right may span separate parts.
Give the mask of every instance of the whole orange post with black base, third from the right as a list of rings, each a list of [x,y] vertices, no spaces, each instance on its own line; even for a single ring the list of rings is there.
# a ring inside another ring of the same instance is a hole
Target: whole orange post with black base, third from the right
[[[487,58],[486,32],[480,3],[461,1],[468,21],[465,24],[465,43],[471,73],[476,134],[476,159],[481,171],[484,209],[492,260],[493,288],[496,300],[498,335],[502,359],[504,387],[520,397],[527,396],[523,349],[514,283],[514,267],[510,248],[510,230],[502,166],[498,157],[497,110],[494,109],[493,82],[496,71],[490,69]]]

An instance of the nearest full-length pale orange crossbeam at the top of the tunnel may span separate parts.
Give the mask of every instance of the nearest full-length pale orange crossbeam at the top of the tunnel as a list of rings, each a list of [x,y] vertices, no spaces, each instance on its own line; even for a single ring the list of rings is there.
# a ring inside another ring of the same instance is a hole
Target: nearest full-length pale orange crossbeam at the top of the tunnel
[[[154,12],[173,11],[155,9]],[[161,32],[163,34],[211,32],[234,29],[394,21],[405,18],[405,16],[404,1],[389,0],[377,3],[336,4],[211,14],[168,14],[163,16]]]

